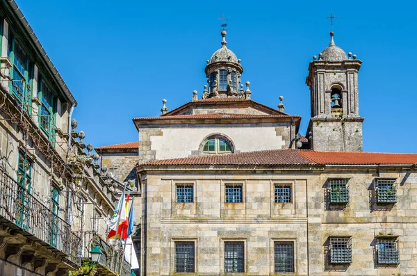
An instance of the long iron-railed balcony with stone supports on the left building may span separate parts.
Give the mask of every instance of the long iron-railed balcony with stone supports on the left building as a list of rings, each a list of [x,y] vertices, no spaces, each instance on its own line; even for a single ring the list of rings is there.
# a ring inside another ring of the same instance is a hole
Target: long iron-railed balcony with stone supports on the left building
[[[41,259],[58,259],[60,269],[81,265],[81,239],[71,232],[67,222],[3,170],[0,170],[0,191],[0,225],[9,229],[3,232],[8,233],[10,241],[13,240],[10,245],[25,246],[26,250],[27,243],[33,241],[33,248],[26,251]],[[43,249],[39,250],[38,245]],[[40,256],[40,251],[44,256]]]

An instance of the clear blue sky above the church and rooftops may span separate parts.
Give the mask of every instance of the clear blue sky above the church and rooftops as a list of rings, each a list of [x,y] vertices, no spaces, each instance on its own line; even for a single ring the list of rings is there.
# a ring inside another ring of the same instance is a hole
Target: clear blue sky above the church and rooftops
[[[369,3],[368,3],[369,2]],[[17,0],[79,106],[94,146],[138,139],[133,117],[159,115],[202,95],[206,60],[227,47],[242,60],[252,99],[309,123],[305,84],[313,55],[329,44],[363,61],[359,113],[367,152],[417,152],[417,23],[414,1]]]

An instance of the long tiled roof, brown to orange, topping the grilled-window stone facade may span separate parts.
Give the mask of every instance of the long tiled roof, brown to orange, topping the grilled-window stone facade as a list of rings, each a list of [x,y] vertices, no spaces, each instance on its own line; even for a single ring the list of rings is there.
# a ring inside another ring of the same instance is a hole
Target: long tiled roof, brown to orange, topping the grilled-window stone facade
[[[415,163],[417,163],[417,154],[316,152],[302,149],[271,149],[238,154],[154,160],[143,163],[142,165],[412,165]]]

